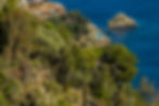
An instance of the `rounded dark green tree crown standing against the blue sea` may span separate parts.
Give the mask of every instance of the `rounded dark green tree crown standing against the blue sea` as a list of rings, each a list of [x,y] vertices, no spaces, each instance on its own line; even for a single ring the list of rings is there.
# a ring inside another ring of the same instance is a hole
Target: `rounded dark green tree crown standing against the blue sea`
[[[104,49],[101,64],[108,65],[115,81],[120,84],[130,81],[136,74],[136,58],[123,45],[109,45]]]

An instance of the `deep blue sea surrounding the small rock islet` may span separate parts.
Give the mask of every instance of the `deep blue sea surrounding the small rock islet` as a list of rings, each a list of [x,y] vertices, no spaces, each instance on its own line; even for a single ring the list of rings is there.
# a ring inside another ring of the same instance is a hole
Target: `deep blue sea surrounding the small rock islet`
[[[96,26],[108,34],[114,43],[123,43],[138,58],[138,74],[133,81],[137,85],[147,77],[159,87],[159,0],[55,0],[68,11],[80,11]],[[123,12],[138,26],[124,36],[112,36],[107,30],[108,21]]]

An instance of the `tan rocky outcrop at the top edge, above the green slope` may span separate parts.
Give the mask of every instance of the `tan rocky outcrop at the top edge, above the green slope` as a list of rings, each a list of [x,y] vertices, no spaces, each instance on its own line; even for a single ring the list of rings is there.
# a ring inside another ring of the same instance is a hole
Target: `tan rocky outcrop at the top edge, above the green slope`
[[[48,0],[19,0],[18,6],[27,10],[40,18],[61,16],[66,13],[65,8],[57,2],[48,2]]]

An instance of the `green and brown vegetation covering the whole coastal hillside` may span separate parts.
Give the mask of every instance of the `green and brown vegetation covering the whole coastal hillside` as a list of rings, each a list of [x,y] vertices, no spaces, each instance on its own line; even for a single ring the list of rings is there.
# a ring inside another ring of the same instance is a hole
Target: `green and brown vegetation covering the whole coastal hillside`
[[[41,21],[12,0],[0,9],[0,106],[158,106],[146,82],[131,87],[137,61],[127,48],[78,43],[81,14]]]

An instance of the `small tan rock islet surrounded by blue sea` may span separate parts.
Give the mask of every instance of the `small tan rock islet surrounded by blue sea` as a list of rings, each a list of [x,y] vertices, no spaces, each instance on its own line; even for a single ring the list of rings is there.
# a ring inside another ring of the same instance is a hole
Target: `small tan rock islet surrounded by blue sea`
[[[123,13],[117,14],[111,21],[108,23],[108,28],[110,30],[129,30],[136,27],[136,22],[127,16]]]

